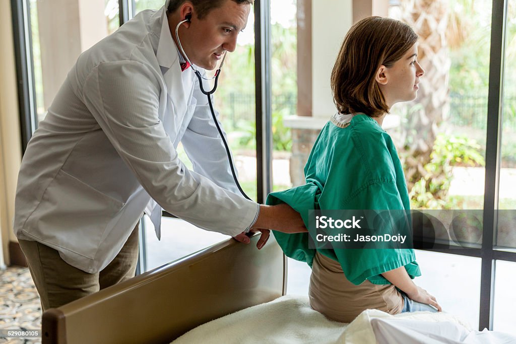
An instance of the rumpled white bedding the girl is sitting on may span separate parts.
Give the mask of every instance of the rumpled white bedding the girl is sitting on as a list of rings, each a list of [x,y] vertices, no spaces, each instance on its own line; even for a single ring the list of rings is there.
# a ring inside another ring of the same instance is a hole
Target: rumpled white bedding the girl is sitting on
[[[466,339],[470,341],[463,341]],[[345,324],[330,321],[313,310],[307,297],[283,296],[202,324],[174,340],[173,344],[376,342],[516,343],[516,337],[499,332],[474,331],[470,324],[447,313],[415,312],[393,316],[367,309],[351,323]]]

